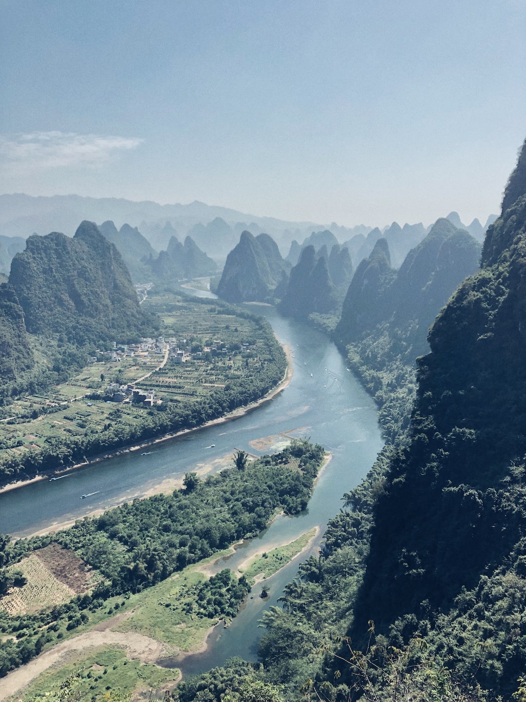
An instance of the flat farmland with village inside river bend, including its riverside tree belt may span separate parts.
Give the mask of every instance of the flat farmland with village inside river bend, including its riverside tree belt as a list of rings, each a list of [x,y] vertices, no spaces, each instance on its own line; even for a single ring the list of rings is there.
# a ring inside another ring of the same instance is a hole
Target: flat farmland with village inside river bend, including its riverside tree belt
[[[281,380],[283,352],[259,319],[166,291],[143,305],[161,317],[161,338],[131,351],[117,339],[113,358],[100,352],[66,383],[8,406],[0,420],[4,482],[195,426]]]

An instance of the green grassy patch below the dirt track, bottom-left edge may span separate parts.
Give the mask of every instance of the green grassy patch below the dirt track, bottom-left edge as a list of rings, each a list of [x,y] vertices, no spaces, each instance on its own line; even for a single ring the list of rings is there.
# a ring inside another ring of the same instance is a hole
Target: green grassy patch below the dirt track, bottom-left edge
[[[166,682],[177,680],[178,670],[166,670],[157,665],[130,660],[126,651],[116,646],[92,649],[76,655],[72,661],[60,668],[50,668],[32,683],[22,702],[30,699],[45,699],[50,691],[58,690],[69,675],[76,675],[73,689],[76,698],[90,700],[110,690],[138,691],[141,688],[156,688]],[[18,697],[17,697],[18,698]]]

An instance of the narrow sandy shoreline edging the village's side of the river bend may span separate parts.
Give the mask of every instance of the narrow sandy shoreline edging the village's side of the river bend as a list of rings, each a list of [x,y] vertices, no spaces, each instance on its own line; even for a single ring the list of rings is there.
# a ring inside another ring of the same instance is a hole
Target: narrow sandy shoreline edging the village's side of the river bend
[[[256,409],[257,407],[261,406],[262,404],[265,404],[266,402],[270,402],[271,399],[276,397],[280,392],[285,390],[285,388],[288,388],[288,385],[290,385],[290,381],[292,380],[292,375],[294,374],[294,369],[292,367],[292,350],[290,348],[290,345],[288,344],[281,344],[283,347],[283,350],[285,351],[285,356],[287,358],[287,368],[285,370],[285,374],[283,375],[283,378],[280,380],[278,385],[276,385],[276,388],[273,390],[269,390],[267,392],[267,395],[263,395],[263,397],[260,397],[259,399],[255,400],[254,402],[251,402],[248,405],[242,405],[241,407],[237,407],[236,409],[233,409],[231,412],[228,412],[227,414],[224,414],[220,417],[217,417],[215,419],[211,419],[208,422],[205,422],[204,424],[199,425],[198,427],[192,427],[190,429],[182,429],[178,432],[170,432],[168,434],[164,434],[161,437],[157,437],[156,439],[147,439],[144,442],[140,444],[133,444],[130,446],[124,446],[121,449],[116,449],[116,451],[108,451],[107,453],[100,453],[97,456],[94,456],[93,458],[90,458],[89,461],[83,461],[82,463],[75,463],[75,465],[69,466],[68,468],[65,468],[64,470],[57,470],[53,473],[54,476],[60,476],[60,475],[65,475],[66,473],[72,472],[76,470],[77,468],[82,468],[84,465],[92,465],[93,463],[102,463],[102,461],[107,461],[109,458],[115,458],[116,456],[122,456],[123,454],[130,453],[131,451],[139,451],[140,449],[147,449],[149,446],[155,446],[156,444],[160,444],[161,442],[166,442],[169,441],[170,439],[176,439],[177,437],[184,436],[187,434],[191,434],[193,432],[198,432],[200,430],[206,429],[208,427],[212,427],[217,424],[222,424],[225,422],[229,422],[231,420],[237,419],[238,417],[241,417],[245,414],[248,414],[250,411],[253,409]],[[51,474],[50,474],[51,475]],[[36,482],[41,482],[41,480],[50,480],[49,475],[37,475],[34,478],[29,478],[27,480],[19,480],[14,483],[10,483],[8,485],[4,485],[3,487],[0,487],[0,494],[3,494],[5,492],[11,492],[11,490],[18,490],[22,487],[25,487],[27,485],[31,485],[32,483]],[[81,519],[81,517],[79,517]]]

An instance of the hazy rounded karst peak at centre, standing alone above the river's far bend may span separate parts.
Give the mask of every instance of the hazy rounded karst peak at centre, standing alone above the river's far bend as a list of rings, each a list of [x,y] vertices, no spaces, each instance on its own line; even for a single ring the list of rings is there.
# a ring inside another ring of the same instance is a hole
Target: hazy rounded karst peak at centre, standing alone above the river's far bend
[[[217,295],[229,302],[273,302],[287,279],[289,266],[268,234],[243,232],[227,256]]]

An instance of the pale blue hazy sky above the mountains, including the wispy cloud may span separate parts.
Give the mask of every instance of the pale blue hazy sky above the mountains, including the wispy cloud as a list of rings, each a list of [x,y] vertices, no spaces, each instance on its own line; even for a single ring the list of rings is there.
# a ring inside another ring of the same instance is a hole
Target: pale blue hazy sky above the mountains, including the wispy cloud
[[[526,0],[0,0],[0,193],[499,213]]]

